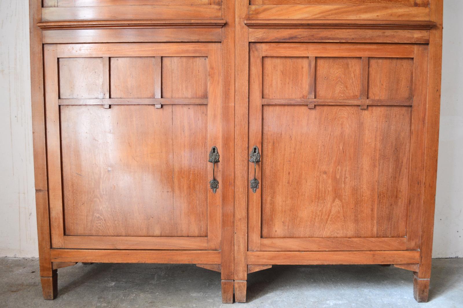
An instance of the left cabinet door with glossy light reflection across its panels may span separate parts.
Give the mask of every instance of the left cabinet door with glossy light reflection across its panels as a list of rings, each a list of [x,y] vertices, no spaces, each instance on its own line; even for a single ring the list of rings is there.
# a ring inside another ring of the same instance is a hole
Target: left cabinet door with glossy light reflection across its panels
[[[52,247],[219,250],[220,57],[216,43],[44,45]]]

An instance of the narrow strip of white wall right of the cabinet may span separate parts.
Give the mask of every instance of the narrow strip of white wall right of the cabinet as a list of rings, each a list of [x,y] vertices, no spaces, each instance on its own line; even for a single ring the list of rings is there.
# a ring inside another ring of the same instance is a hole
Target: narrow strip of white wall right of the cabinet
[[[444,0],[433,257],[463,258],[463,1]]]

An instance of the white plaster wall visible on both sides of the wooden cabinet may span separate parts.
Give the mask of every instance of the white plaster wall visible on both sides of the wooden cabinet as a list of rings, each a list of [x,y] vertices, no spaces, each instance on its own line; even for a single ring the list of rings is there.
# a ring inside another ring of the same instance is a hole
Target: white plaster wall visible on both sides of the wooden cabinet
[[[444,0],[434,257],[463,257],[463,1]],[[28,0],[0,0],[0,256],[37,257]]]

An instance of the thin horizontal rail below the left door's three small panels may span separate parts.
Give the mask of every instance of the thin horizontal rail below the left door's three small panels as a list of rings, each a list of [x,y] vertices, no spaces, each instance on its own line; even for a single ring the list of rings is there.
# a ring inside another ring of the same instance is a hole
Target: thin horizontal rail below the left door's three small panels
[[[206,98],[59,99],[58,105],[207,105]]]

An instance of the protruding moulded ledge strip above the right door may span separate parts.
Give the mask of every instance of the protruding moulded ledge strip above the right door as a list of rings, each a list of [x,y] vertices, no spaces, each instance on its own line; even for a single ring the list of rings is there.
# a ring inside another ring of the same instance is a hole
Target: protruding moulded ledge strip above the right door
[[[429,30],[436,25],[429,20],[374,19],[247,19],[250,28],[338,28],[338,29],[401,29]]]

